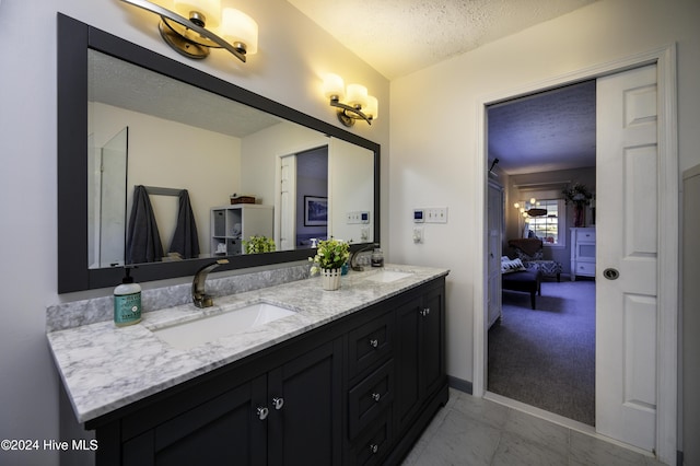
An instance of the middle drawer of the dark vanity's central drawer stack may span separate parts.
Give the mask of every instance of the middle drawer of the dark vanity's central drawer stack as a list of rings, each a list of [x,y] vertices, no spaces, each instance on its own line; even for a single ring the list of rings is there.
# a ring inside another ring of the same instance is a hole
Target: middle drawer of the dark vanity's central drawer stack
[[[394,360],[370,374],[350,389],[348,396],[348,432],[354,439],[370,427],[394,399]]]

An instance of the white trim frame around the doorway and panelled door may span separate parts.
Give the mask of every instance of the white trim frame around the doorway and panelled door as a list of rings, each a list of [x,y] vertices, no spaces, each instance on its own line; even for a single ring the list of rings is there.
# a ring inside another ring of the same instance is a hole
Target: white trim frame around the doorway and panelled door
[[[547,91],[579,81],[615,74],[644,65],[656,63],[658,89],[658,228],[677,225],[676,234],[658,234],[658,315],[657,315],[657,406],[656,456],[675,464],[677,439],[678,381],[678,314],[679,314],[679,170],[677,138],[676,44],[595,65],[571,73],[523,84],[477,98],[477,160],[475,171],[477,231],[481,232],[481,255],[475,260],[474,287],[474,371],[472,395],[483,397],[487,386],[487,189],[488,189],[488,121],[487,106],[506,100]],[[479,207],[478,207],[479,209]],[[480,223],[480,224],[479,224]],[[672,229],[673,231],[673,229]],[[661,233],[661,231],[660,231]]]

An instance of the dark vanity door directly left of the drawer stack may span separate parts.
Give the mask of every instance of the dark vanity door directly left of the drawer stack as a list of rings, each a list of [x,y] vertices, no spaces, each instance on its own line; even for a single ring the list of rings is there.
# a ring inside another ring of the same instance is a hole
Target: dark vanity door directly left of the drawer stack
[[[340,464],[341,356],[337,339],[269,372],[269,464]]]

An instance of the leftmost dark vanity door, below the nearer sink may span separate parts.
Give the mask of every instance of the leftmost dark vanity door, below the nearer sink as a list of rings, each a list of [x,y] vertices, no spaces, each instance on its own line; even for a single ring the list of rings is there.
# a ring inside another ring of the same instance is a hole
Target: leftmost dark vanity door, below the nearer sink
[[[267,426],[257,418],[265,376],[176,416],[124,444],[124,465],[267,463]]]

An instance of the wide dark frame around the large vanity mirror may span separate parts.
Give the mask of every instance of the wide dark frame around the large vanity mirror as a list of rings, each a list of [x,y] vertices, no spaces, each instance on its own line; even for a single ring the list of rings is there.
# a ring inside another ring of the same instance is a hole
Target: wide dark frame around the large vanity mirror
[[[371,150],[374,152],[374,242],[380,242],[380,144],[58,13],[59,293],[115,287],[124,276],[120,267],[88,268],[89,48]],[[362,246],[363,244],[352,245],[352,249],[357,251]],[[218,270],[283,264],[303,260],[311,255],[311,249],[294,249],[230,256],[230,264]],[[200,267],[212,260],[213,258],[201,258],[141,264],[131,275],[137,282],[194,276]]]

